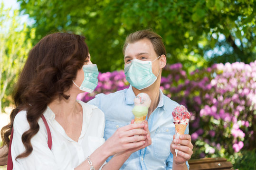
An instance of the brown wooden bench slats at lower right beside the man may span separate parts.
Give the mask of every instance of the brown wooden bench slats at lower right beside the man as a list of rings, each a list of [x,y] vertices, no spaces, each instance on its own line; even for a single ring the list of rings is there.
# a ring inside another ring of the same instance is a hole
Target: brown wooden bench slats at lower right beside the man
[[[230,170],[233,165],[225,158],[202,158],[190,160],[190,170]]]

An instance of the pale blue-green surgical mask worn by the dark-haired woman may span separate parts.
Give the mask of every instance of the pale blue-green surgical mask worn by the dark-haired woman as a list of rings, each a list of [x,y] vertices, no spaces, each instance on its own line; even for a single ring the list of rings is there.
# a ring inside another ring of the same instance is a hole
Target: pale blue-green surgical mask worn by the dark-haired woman
[[[92,93],[98,85],[98,75],[99,71],[96,64],[88,64],[83,66],[83,71],[85,73],[85,79],[82,85],[79,87],[73,81],[73,83],[80,89],[88,93]]]

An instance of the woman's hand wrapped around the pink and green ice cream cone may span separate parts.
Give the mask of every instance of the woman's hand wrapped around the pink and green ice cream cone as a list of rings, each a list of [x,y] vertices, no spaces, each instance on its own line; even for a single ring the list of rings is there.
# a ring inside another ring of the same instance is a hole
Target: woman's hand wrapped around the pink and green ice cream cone
[[[113,136],[106,140],[104,147],[110,155],[124,151],[135,152],[151,144],[148,125],[145,122],[130,124],[118,128]]]

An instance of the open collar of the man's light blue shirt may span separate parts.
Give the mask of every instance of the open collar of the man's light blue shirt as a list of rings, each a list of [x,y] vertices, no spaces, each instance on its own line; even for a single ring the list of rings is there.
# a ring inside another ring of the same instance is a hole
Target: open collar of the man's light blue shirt
[[[159,91],[160,91],[160,93],[159,93],[160,99],[159,99],[159,103],[158,103],[157,107],[163,107],[163,109],[164,109],[163,93],[160,89],[159,89]],[[132,85],[130,85],[125,94],[125,103],[126,104],[134,104],[134,98],[135,98],[135,94],[133,92],[133,87],[132,87]]]

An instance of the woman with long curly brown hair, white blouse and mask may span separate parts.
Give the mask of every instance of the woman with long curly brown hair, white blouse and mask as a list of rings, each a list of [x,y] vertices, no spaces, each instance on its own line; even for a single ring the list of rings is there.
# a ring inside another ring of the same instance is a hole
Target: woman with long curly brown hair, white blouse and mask
[[[13,129],[13,169],[118,170],[131,153],[151,144],[147,123],[120,127],[104,142],[104,113],[76,100],[95,89],[97,76],[83,36],[49,34],[35,45],[19,76],[11,121],[1,130],[9,146]]]

